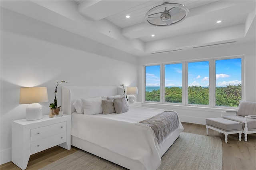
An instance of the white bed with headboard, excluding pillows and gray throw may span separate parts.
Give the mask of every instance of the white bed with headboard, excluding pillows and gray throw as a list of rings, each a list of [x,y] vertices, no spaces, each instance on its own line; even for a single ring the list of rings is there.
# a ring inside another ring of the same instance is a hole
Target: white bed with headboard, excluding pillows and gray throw
[[[184,130],[179,119],[178,127],[158,143],[152,128],[138,122],[160,115],[164,110],[129,106],[129,110],[121,114],[85,115],[76,113],[73,105],[78,99],[116,95],[123,95],[123,89],[62,87],[62,111],[72,116],[71,145],[128,169],[157,169],[161,157]]]

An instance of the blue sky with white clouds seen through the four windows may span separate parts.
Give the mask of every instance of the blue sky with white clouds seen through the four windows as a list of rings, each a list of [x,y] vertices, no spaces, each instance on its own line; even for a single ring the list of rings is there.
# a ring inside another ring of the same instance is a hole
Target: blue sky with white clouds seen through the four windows
[[[182,64],[166,65],[166,87],[182,86]],[[216,60],[216,86],[241,83],[241,59]],[[209,62],[188,63],[188,86],[209,85]],[[160,86],[160,65],[146,67],[146,86]]]

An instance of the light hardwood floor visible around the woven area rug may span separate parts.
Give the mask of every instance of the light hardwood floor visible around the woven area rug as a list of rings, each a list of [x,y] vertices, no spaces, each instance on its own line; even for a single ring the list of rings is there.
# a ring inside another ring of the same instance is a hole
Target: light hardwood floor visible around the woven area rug
[[[182,123],[183,132],[206,135],[205,125],[197,125],[192,123]],[[225,143],[224,134],[219,134],[214,130],[209,129],[209,136],[216,136],[222,139],[222,170],[256,170],[256,134],[248,134],[248,141],[238,140],[238,134],[229,134],[228,143]],[[59,146],[44,150],[30,156],[27,170],[40,169],[60,158],[72,154],[79,150],[71,147],[71,150],[66,150]],[[18,166],[12,162],[2,164],[1,170],[19,170]]]

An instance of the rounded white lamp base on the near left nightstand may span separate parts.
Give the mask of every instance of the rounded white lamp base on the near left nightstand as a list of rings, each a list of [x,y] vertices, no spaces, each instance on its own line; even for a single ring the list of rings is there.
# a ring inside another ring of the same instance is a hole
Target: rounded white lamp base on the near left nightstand
[[[43,118],[42,105],[39,103],[29,104],[26,108],[26,120],[35,121]]]

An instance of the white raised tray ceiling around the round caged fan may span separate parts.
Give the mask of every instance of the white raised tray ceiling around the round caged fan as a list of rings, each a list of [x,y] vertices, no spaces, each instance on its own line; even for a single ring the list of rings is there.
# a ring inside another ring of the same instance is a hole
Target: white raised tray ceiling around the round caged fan
[[[168,27],[146,24],[146,12],[164,2],[185,5],[188,17]],[[2,0],[1,6],[137,56],[255,41],[255,0]]]

